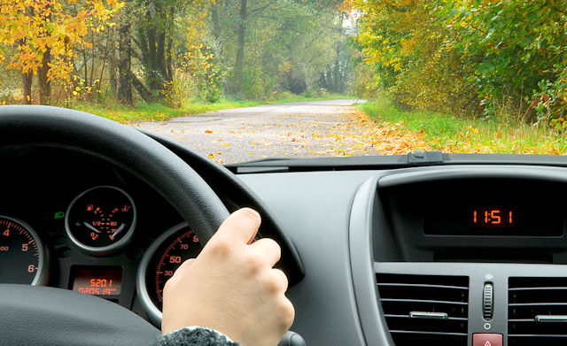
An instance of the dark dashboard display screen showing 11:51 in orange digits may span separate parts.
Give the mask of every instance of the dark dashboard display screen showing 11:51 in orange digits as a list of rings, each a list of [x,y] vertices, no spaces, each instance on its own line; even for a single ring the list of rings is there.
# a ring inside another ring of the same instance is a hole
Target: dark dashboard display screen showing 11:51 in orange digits
[[[551,197],[564,195],[555,182],[455,179],[411,185],[400,194],[419,196],[423,235],[560,237],[567,227],[567,202]],[[410,201],[398,208],[404,207],[419,208]]]

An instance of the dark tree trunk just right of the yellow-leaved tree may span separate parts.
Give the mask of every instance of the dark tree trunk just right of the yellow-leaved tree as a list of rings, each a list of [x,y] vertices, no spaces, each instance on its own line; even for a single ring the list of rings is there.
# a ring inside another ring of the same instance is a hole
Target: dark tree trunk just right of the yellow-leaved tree
[[[131,68],[131,55],[132,55],[132,43],[130,42],[130,23],[128,19],[120,26],[118,30],[119,38],[119,56],[118,56],[118,99],[122,104],[132,105],[134,104],[134,99],[132,97],[132,81],[130,79],[132,75]]]

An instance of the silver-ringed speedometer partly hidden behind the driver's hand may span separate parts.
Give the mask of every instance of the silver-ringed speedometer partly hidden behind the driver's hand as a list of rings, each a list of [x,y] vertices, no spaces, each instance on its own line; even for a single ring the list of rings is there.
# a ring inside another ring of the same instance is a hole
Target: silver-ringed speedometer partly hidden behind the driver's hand
[[[150,319],[159,325],[163,288],[175,270],[202,250],[198,237],[183,223],[160,235],[145,252],[137,273],[136,289]]]

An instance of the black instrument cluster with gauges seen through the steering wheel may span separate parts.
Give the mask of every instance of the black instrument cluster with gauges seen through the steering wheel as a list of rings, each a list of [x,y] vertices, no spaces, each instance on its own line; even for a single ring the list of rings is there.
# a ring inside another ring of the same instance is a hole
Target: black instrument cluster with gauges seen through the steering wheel
[[[167,276],[200,250],[161,196],[113,165],[52,148],[12,147],[2,157],[4,283],[101,296],[147,318],[160,304]],[[152,271],[147,277],[138,273],[143,258]],[[145,300],[136,294],[136,281],[144,282]]]

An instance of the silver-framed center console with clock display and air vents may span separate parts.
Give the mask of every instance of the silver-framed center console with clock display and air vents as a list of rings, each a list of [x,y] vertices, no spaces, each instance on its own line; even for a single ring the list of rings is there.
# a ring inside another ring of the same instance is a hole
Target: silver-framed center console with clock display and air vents
[[[566,192],[567,171],[552,167],[427,167],[366,181],[350,247],[367,344],[567,343]]]

